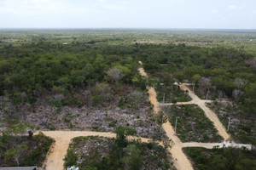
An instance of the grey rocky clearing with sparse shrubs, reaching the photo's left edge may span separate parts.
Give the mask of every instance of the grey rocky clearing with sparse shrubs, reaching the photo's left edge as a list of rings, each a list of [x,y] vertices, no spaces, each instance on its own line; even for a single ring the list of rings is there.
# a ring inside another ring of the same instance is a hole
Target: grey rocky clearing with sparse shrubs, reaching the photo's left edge
[[[114,99],[96,106],[60,106],[49,102],[49,98],[58,101],[60,96],[40,99],[33,105],[13,106],[9,102],[4,102],[3,105],[2,102],[0,122],[25,121],[40,130],[113,132],[115,127],[123,126],[136,129],[139,136],[159,136],[160,129],[154,121],[152,106],[148,103],[147,94],[143,95],[145,100],[140,105],[131,105],[132,101],[127,97],[126,103],[120,106],[119,101]]]

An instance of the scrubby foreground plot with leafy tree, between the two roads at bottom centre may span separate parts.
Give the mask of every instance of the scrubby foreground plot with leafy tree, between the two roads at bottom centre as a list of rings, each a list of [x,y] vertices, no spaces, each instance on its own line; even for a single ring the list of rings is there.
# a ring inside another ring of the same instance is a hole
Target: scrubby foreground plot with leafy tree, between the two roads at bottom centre
[[[79,137],[73,139],[65,157],[65,167],[79,169],[174,169],[166,149],[156,143],[127,140],[136,131],[118,127],[116,139]]]

